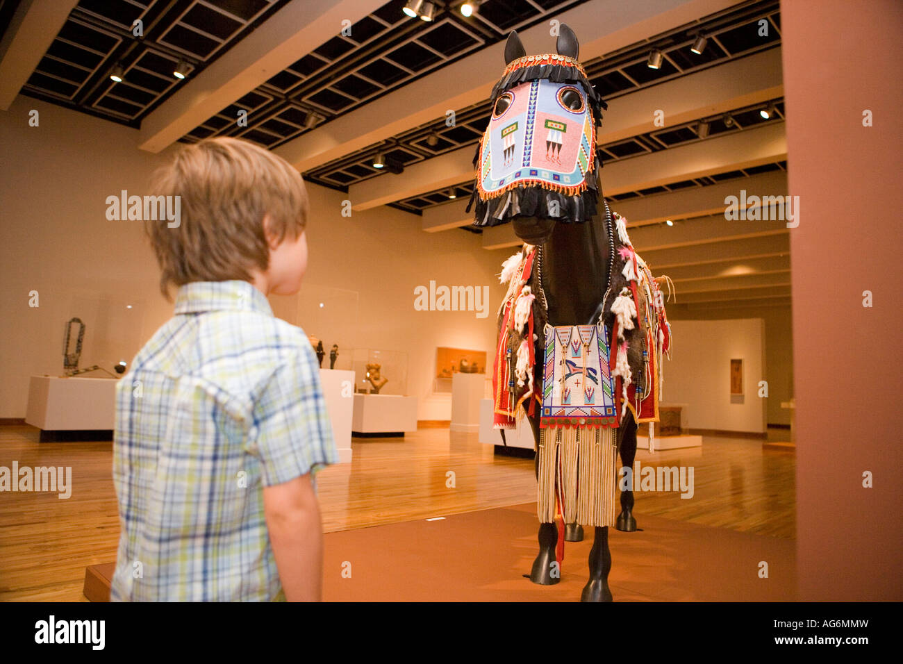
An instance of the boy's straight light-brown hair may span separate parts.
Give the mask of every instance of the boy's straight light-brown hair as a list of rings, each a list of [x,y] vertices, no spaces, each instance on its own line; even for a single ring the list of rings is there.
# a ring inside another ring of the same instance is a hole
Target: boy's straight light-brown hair
[[[160,289],[192,281],[252,281],[251,269],[269,267],[263,220],[279,241],[307,226],[301,174],[265,147],[237,138],[189,145],[154,176],[155,196],[179,196],[181,219],[170,228],[147,222],[162,275]]]

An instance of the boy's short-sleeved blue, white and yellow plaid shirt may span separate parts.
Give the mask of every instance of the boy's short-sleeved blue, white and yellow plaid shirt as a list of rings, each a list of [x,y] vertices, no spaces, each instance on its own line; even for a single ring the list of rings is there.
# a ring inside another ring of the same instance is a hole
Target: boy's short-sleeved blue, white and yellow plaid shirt
[[[338,460],[303,330],[245,281],[183,285],[116,387],[111,599],[284,599],[263,487]]]

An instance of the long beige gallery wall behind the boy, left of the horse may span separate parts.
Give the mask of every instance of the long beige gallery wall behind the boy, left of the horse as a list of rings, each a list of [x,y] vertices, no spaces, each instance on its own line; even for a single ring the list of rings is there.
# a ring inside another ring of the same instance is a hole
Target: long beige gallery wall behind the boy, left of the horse
[[[39,126],[28,124],[31,109]],[[135,129],[23,96],[0,113],[0,417],[24,416],[31,375],[61,375],[70,317],[87,325],[79,365],[112,369],[172,315],[141,222],[106,218],[107,196],[144,195],[154,168],[178,149],[148,154],[137,137]],[[451,395],[433,393],[436,347],[487,351],[491,361],[504,295],[496,275],[512,251],[486,251],[463,230],[424,233],[420,218],[401,210],[344,217],[346,194],[314,184],[308,192],[308,272],[299,296],[271,298],[276,315],[321,338],[327,352],[338,342],[339,368],[354,348],[405,354],[405,392],[418,398],[418,419],[449,419]],[[431,280],[488,287],[488,315],[416,311],[414,289]],[[29,305],[35,291],[37,307]],[[340,311],[312,311],[321,301]]]

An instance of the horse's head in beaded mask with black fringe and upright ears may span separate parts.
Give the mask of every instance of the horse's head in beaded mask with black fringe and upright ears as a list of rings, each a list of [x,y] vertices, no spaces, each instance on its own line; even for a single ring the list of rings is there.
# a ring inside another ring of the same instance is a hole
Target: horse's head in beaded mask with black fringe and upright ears
[[[492,117],[474,158],[476,226],[517,217],[580,222],[596,212],[596,126],[607,105],[565,24],[556,49],[528,56],[517,33],[508,36],[507,67],[492,89]]]

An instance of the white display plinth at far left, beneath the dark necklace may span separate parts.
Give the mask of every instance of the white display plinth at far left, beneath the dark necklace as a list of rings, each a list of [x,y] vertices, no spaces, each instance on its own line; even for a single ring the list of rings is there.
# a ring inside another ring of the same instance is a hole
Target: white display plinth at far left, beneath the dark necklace
[[[116,379],[32,376],[25,422],[44,431],[113,430]]]

